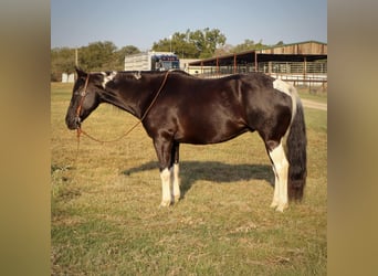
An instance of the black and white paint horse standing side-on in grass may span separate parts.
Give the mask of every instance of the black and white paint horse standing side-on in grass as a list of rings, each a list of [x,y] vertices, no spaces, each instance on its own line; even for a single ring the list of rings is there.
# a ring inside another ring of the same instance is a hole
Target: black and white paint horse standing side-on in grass
[[[256,131],[270,157],[274,179],[271,208],[283,212],[303,199],[306,183],[306,128],[294,86],[263,73],[206,79],[182,71],[92,72],[77,78],[65,123],[71,130],[99,104],[114,105],[139,119],[159,161],[160,206],[181,198],[180,144],[224,142]]]

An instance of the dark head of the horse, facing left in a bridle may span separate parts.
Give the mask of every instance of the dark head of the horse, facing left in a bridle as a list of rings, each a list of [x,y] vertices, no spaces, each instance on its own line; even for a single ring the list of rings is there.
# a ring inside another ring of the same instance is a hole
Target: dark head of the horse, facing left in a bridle
[[[101,103],[99,93],[104,91],[105,73],[85,73],[76,68],[77,79],[74,84],[71,103],[65,116],[70,129],[76,129],[81,123],[96,109]]]

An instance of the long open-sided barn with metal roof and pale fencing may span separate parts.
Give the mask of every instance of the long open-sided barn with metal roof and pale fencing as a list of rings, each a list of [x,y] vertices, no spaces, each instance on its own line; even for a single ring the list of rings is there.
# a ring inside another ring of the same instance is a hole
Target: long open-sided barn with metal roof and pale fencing
[[[188,72],[200,77],[263,72],[294,85],[327,85],[327,44],[305,41],[216,56],[189,63]]]

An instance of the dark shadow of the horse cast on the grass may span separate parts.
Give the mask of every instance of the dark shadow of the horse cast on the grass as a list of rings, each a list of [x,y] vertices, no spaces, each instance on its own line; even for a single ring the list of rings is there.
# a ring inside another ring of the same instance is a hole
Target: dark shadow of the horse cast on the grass
[[[157,170],[156,161],[146,162],[139,167],[123,171],[123,174]],[[198,180],[217,183],[231,183],[248,180],[266,180],[274,185],[274,174],[272,167],[267,164],[229,164],[217,161],[182,161],[180,162],[180,190],[183,197]]]

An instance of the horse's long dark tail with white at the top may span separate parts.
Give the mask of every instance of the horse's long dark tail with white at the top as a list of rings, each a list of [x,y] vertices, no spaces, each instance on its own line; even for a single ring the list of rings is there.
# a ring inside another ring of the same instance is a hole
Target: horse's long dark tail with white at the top
[[[288,200],[301,201],[307,177],[306,127],[304,112],[296,89],[290,87],[293,114],[286,140],[286,157],[288,160],[287,195]]]

